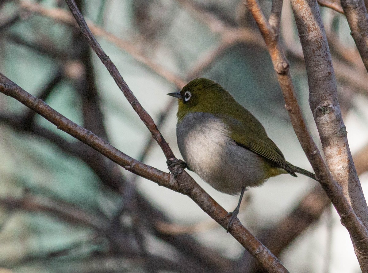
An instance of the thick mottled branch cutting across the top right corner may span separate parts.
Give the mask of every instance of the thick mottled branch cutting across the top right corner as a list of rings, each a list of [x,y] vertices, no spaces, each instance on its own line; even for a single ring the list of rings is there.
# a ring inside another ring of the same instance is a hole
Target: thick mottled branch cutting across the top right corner
[[[341,0],[351,36],[368,71],[368,14],[363,0]]]

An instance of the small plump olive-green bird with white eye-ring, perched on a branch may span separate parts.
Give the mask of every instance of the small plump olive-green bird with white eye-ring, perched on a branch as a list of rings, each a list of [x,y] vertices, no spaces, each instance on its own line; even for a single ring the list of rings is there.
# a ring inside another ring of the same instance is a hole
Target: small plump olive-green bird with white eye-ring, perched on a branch
[[[190,81],[178,99],[176,136],[189,170],[226,194],[240,193],[227,231],[239,213],[244,191],[279,174],[315,175],[285,160],[262,124],[221,85],[206,79]]]

